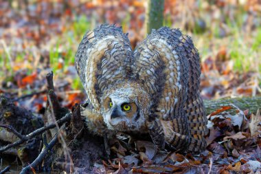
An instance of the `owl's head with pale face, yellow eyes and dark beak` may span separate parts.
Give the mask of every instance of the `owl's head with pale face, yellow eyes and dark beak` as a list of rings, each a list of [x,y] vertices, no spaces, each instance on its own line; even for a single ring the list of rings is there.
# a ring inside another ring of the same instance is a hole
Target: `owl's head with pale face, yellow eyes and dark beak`
[[[103,97],[102,116],[109,129],[138,131],[146,127],[150,102],[144,89],[124,84],[108,91]]]

